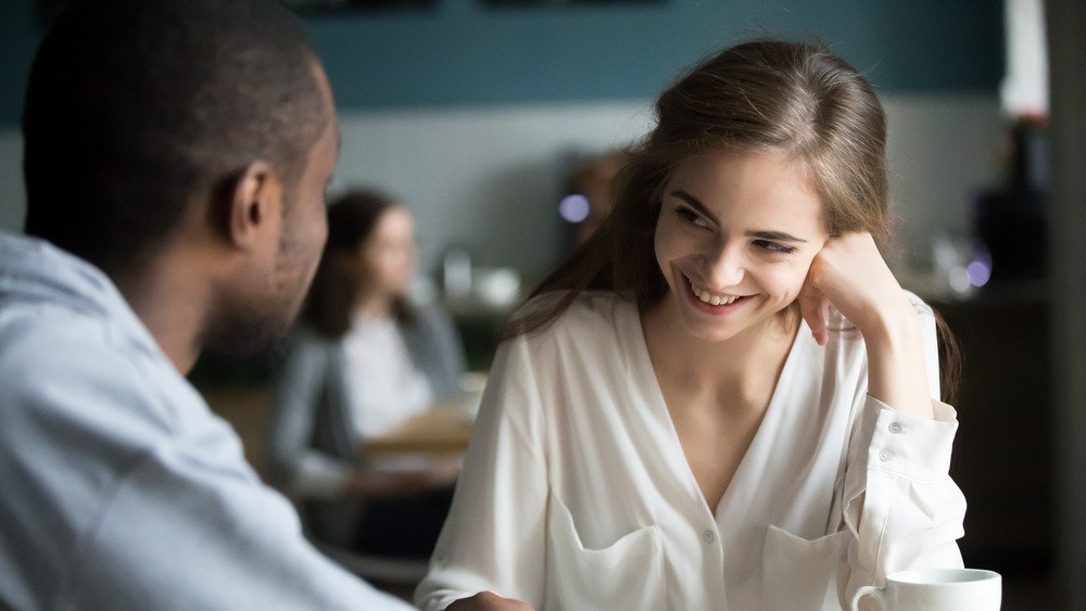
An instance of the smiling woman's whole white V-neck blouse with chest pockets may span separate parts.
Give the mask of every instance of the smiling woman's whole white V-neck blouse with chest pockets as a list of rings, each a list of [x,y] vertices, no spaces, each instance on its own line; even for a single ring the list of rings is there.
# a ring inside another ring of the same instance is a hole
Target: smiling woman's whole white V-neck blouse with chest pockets
[[[937,397],[934,318],[910,297]],[[823,347],[804,324],[712,513],[636,308],[584,294],[500,348],[416,603],[492,590],[539,610],[841,609],[888,572],[960,567],[958,424],[933,408],[927,420],[869,397],[859,333]]]

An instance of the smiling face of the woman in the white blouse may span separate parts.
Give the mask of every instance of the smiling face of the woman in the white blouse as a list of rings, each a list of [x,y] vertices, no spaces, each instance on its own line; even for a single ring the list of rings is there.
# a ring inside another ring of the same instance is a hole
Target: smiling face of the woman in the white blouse
[[[828,239],[801,168],[762,151],[690,160],[665,184],[656,259],[683,326],[708,341],[769,321]]]

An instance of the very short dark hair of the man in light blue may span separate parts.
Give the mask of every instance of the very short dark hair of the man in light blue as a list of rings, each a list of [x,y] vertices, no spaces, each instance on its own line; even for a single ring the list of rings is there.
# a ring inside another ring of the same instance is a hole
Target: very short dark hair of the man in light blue
[[[131,271],[195,193],[212,190],[212,214],[227,214],[257,160],[283,180],[289,215],[327,123],[315,62],[301,23],[273,0],[71,2],[27,88],[26,232]]]

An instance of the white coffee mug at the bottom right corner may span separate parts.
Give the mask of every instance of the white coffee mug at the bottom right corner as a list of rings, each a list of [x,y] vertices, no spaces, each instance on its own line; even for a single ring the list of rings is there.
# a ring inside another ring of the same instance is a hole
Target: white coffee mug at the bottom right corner
[[[921,569],[886,575],[885,587],[863,586],[853,611],[870,596],[884,611],[999,611],[1002,577],[981,569]]]

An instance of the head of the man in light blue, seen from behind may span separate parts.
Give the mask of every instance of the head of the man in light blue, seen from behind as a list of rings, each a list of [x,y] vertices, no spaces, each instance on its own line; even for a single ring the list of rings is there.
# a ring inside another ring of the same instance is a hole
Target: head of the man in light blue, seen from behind
[[[273,0],[74,0],[30,73],[26,232],[116,279],[204,228],[225,253],[211,260],[251,269],[212,292],[202,340],[273,333],[324,244],[337,130],[304,30]]]

